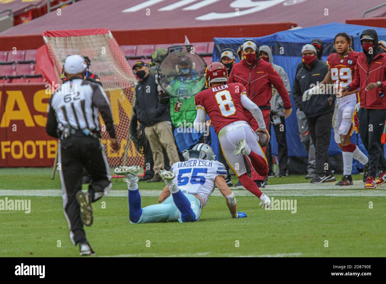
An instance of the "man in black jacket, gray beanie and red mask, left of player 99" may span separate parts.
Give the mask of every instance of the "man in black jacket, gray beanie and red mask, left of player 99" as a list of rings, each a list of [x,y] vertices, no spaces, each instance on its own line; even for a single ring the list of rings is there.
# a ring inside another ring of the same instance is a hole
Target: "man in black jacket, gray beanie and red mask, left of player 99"
[[[335,181],[335,177],[328,159],[328,146],[336,96],[320,94],[303,101],[302,94],[323,81],[328,72],[328,66],[324,61],[318,60],[317,51],[311,44],[303,46],[301,53],[303,63],[295,77],[293,98],[296,108],[300,108],[307,117],[310,135],[315,145],[316,175],[310,182],[318,184],[331,182]]]

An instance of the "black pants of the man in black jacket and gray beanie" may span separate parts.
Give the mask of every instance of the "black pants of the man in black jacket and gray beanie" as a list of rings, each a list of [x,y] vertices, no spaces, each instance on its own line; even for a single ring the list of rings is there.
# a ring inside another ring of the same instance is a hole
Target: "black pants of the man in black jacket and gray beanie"
[[[332,116],[330,111],[320,116],[307,117],[310,136],[315,145],[316,173],[320,175],[331,175],[332,169],[328,158],[328,147],[330,146]]]

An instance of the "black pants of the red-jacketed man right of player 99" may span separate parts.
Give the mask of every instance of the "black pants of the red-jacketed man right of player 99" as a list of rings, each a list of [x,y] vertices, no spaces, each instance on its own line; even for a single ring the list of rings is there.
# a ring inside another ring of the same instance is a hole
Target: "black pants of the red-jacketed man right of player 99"
[[[384,109],[359,109],[359,135],[364,147],[369,153],[369,175],[377,176],[377,167],[386,171],[385,158],[381,136],[385,123],[386,110]]]

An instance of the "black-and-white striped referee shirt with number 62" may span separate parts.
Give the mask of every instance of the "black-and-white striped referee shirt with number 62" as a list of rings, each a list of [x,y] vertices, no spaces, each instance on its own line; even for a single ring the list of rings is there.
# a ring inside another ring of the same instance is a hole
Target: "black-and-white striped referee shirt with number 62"
[[[110,137],[115,138],[110,102],[102,87],[80,78],[68,80],[50,99],[47,134],[58,138],[57,129],[61,130],[68,124],[74,129],[88,128],[99,133],[98,111]]]

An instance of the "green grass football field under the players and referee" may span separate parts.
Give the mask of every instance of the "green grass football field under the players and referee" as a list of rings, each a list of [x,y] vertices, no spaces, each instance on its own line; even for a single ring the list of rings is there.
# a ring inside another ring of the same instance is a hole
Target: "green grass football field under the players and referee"
[[[54,180],[50,176],[51,170],[47,168],[0,169],[0,199],[31,201],[29,214],[0,211],[0,257],[78,256],[78,247],[69,240],[60,194],[25,196],[23,192],[60,189],[58,175]],[[356,175],[355,179],[361,176]],[[303,176],[269,179],[269,185],[301,182],[308,181]],[[154,194],[142,196],[142,206],[157,203],[157,194],[162,188],[163,183],[139,183],[140,191],[154,191]],[[23,194],[8,196],[6,190],[20,190]],[[127,190],[121,179],[113,185],[112,192],[117,190]],[[262,191],[271,196],[268,189]],[[86,236],[97,256],[386,255],[386,190],[381,190],[383,196],[371,196],[371,192],[370,196],[361,196],[364,189],[356,189],[357,196],[323,196],[322,191],[317,196],[272,195],[275,199],[296,199],[295,214],[284,210],[266,211],[259,208],[256,197],[242,194],[245,190],[235,190],[238,211],[248,215],[241,219],[230,219],[224,198],[215,192],[201,211],[200,221],[182,224],[130,224],[125,192],[121,191],[120,196],[103,197],[93,203],[94,224],[85,227]],[[372,209],[369,202],[372,202]]]

